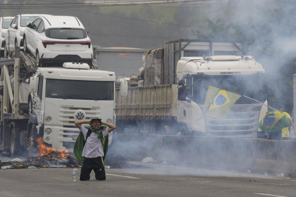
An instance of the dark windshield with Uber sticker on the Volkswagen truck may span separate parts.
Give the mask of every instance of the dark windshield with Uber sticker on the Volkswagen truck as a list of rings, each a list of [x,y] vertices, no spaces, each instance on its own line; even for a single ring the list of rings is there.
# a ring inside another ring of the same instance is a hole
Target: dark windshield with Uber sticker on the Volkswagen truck
[[[46,79],[47,98],[113,100],[112,81]]]

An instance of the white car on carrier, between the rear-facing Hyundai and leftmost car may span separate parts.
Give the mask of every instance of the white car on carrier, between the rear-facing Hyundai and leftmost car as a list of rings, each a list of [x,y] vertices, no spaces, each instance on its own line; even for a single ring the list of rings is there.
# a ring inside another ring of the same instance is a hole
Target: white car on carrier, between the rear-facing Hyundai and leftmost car
[[[15,46],[23,48],[23,33],[28,23],[34,21],[39,16],[50,16],[48,14],[19,14],[11,21],[7,33],[4,37],[4,56],[8,56],[9,51],[14,51]],[[9,34],[8,34],[9,33]]]

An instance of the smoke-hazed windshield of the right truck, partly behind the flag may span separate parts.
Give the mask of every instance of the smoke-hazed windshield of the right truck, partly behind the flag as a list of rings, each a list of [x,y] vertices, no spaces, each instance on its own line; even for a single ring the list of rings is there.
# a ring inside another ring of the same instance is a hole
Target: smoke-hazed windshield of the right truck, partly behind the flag
[[[204,104],[209,85],[218,86],[233,92],[243,94],[247,97],[258,100],[262,103],[266,100],[267,90],[265,90],[262,74],[252,75],[223,75],[193,77],[193,101],[197,104]],[[249,98],[241,97],[236,104],[257,103]]]

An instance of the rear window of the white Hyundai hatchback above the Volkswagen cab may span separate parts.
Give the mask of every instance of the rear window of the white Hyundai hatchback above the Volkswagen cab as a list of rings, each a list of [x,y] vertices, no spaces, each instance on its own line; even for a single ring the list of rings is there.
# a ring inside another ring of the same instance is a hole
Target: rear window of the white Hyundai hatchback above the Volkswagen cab
[[[83,29],[70,29],[70,28],[62,28],[62,29],[47,29],[46,36],[48,38],[55,39],[82,39],[86,38],[86,32]]]

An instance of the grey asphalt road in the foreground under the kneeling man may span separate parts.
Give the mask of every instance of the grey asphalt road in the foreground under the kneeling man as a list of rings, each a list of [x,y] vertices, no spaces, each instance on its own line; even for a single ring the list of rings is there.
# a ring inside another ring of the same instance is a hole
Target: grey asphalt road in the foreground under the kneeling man
[[[216,196],[294,197],[296,179],[236,171],[141,163],[145,169],[106,169],[107,179],[72,181],[71,168],[0,170],[2,197]]]

